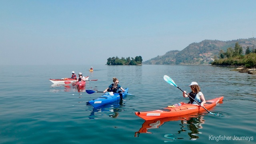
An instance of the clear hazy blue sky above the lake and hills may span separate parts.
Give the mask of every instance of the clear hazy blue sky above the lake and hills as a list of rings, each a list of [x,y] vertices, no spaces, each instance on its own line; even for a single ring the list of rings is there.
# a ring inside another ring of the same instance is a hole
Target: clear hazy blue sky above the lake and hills
[[[0,65],[146,61],[255,35],[255,0],[0,0]]]

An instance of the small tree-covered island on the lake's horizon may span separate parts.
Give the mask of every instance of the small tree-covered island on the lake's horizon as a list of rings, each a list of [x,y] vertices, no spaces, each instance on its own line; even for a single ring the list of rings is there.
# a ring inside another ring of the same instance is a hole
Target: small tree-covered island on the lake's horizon
[[[107,59],[107,65],[141,65],[142,64],[142,57],[141,56],[136,56],[135,58],[118,58],[112,57]]]

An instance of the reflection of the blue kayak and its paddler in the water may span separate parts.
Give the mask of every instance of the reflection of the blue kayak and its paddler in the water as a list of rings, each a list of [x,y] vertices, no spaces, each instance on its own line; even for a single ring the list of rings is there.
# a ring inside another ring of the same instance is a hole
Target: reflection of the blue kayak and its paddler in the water
[[[90,103],[87,102],[86,105],[90,106]],[[119,112],[123,111],[123,100],[116,101],[115,103],[105,104],[100,107],[93,108],[92,112],[88,116],[89,119],[99,119],[104,115],[108,115],[112,118],[117,118],[119,116]]]

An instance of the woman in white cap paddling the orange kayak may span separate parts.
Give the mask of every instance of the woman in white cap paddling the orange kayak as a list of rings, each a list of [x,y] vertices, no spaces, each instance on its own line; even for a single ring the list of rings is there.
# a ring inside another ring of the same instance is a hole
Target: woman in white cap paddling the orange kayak
[[[200,87],[198,86],[197,82],[191,82],[191,84],[189,85],[192,92],[190,92],[188,95],[191,96],[192,98],[194,98],[194,100],[196,100],[201,106],[204,106],[204,104],[206,103],[205,99],[204,99],[204,94],[200,91]],[[183,92],[183,97],[188,97],[188,95],[186,95],[186,91]],[[194,100],[189,97],[190,101],[188,102],[189,104],[197,104],[197,102],[194,102]]]

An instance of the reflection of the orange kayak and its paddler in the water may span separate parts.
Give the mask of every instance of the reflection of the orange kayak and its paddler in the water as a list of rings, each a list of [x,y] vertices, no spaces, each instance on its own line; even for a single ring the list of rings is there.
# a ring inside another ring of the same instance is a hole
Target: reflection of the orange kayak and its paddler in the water
[[[183,139],[183,138],[177,138],[175,136],[176,134],[181,134],[182,132],[188,132],[188,135],[190,136],[190,140],[196,140],[199,138],[198,134],[202,134],[202,132],[199,131],[199,129],[202,129],[205,120],[204,114],[188,114],[188,115],[182,115],[182,116],[175,116],[175,117],[167,117],[167,118],[161,118],[156,120],[146,120],[142,124],[142,128],[138,132],[135,132],[134,137],[139,137],[140,133],[149,133],[152,134],[152,132],[148,132],[150,129],[154,128],[160,128],[164,123],[169,121],[180,121],[181,126],[180,130],[178,130],[178,133],[175,134],[166,134],[164,137],[168,138],[170,140],[164,141],[164,142],[172,142],[177,139]],[[189,131],[188,131],[189,130]]]

